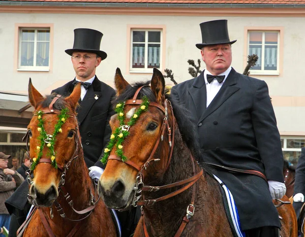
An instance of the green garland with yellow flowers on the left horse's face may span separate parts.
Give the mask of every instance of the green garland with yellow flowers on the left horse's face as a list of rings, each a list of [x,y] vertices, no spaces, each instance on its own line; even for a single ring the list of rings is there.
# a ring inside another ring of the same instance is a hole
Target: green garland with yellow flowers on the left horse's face
[[[68,114],[68,109],[64,108],[60,111],[60,113],[57,115],[58,120],[57,123],[54,127],[54,132],[53,135],[49,135],[46,133],[45,129],[44,129],[44,120],[42,119],[42,115],[44,114],[42,110],[39,110],[37,112],[37,119],[38,119],[38,128],[37,130],[40,132],[40,135],[38,136],[38,140],[40,140],[40,146],[37,146],[37,157],[32,159],[32,164],[31,164],[31,170],[34,170],[36,165],[38,164],[40,158],[42,157],[42,151],[43,151],[43,147],[45,146],[45,144],[47,144],[47,147],[49,148],[48,154],[47,156],[50,156],[51,158],[51,164],[54,168],[57,169],[57,163],[56,163],[56,159],[55,159],[55,151],[54,151],[54,145],[55,145],[55,137],[57,135],[57,133],[62,133],[62,125],[64,123],[66,123],[66,120],[69,117]]]

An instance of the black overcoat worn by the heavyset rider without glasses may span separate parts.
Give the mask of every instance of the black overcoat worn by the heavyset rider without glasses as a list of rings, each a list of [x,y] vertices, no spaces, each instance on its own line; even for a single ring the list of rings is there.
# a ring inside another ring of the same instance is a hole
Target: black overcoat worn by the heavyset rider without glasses
[[[258,170],[267,180],[284,183],[280,134],[264,81],[232,68],[207,108],[203,72],[175,85],[171,94],[190,109],[205,162]],[[214,173],[232,192],[243,230],[280,227],[268,184],[263,179],[223,170]]]

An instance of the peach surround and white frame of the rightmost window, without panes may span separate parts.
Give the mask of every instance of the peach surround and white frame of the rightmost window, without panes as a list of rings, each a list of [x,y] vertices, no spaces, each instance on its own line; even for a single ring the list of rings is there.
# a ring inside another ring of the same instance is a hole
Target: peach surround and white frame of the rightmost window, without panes
[[[277,70],[253,70],[250,69],[251,75],[262,75],[262,76],[279,76],[283,73],[283,54],[284,54],[284,27],[283,26],[245,26],[244,28],[244,61],[243,68],[247,66],[248,55],[249,55],[249,41],[250,41],[250,32],[271,32],[278,33],[278,62],[277,62]],[[264,43],[264,42],[262,42]],[[264,50],[262,50],[264,51]],[[264,52],[263,52],[264,53]],[[263,69],[263,66],[262,66]]]

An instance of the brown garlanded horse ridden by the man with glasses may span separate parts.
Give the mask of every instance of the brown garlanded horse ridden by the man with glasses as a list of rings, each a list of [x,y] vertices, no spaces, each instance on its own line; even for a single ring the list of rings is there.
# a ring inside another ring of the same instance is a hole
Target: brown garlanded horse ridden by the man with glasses
[[[35,108],[27,127],[34,173],[28,196],[38,209],[23,236],[116,236],[83,159],[75,113],[80,84],[67,98],[44,98],[30,79],[28,95]]]

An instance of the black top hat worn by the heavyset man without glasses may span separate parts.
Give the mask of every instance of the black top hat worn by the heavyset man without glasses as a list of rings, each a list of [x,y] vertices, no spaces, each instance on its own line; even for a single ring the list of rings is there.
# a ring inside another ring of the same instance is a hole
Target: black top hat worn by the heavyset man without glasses
[[[236,40],[230,41],[227,20],[212,20],[200,24],[202,43],[196,47],[202,49],[207,45],[234,44]]]

